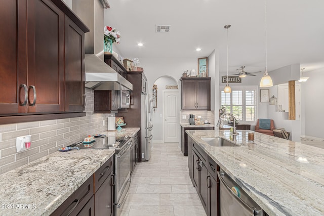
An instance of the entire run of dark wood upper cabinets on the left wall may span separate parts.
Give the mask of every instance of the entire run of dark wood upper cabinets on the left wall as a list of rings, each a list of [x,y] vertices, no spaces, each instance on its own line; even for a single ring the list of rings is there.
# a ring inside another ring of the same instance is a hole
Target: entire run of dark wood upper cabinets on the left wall
[[[85,116],[89,29],[58,0],[1,4],[0,124]]]

